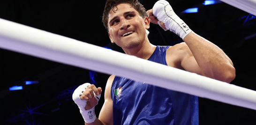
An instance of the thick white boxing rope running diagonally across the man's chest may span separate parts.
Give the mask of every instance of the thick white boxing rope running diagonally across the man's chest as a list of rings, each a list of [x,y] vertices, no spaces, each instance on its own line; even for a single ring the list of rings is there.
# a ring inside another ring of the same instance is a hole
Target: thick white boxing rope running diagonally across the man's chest
[[[3,19],[0,48],[256,110],[256,91]]]

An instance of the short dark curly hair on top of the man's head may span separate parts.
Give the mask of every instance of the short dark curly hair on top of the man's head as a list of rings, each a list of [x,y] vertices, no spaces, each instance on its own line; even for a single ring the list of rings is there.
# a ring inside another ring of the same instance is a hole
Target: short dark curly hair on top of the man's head
[[[112,9],[112,11],[116,11],[117,5],[121,3],[128,3],[133,7],[135,10],[137,10],[140,14],[141,17],[145,18],[147,17],[146,14],[146,9],[143,7],[143,5],[138,1],[138,0],[107,0],[105,4],[105,8],[103,11],[103,17],[102,17],[102,22],[104,23],[105,28],[107,29],[108,32],[108,15],[109,11]]]

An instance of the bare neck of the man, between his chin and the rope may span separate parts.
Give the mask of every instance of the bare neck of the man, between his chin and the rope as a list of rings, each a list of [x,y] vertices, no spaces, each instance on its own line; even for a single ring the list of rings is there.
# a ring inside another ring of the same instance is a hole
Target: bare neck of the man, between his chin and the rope
[[[132,49],[123,48],[124,52],[128,55],[133,55],[142,59],[149,59],[150,56],[155,51],[156,46],[151,44],[148,39],[146,39],[142,44]]]

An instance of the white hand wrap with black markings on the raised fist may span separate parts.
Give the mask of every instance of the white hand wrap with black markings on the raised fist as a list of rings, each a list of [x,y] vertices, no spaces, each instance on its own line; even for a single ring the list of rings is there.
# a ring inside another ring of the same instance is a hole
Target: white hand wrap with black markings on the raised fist
[[[164,22],[166,29],[177,34],[184,39],[190,32],[188,25],[177,16],[169,2],[166,0],[159,0],[153,7],[153,15],[161,22]],[[160,25],[160,23],[158,23]]]

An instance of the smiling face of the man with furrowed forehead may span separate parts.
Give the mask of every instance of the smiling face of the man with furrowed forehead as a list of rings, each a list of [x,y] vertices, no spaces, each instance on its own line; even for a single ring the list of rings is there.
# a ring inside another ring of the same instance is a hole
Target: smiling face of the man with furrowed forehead
[[[129,4],[119,4],[108,15],[109,37],[123,49],[132,49],[143,43],[146,30],[149,29],[148,18],[142,18]]]

